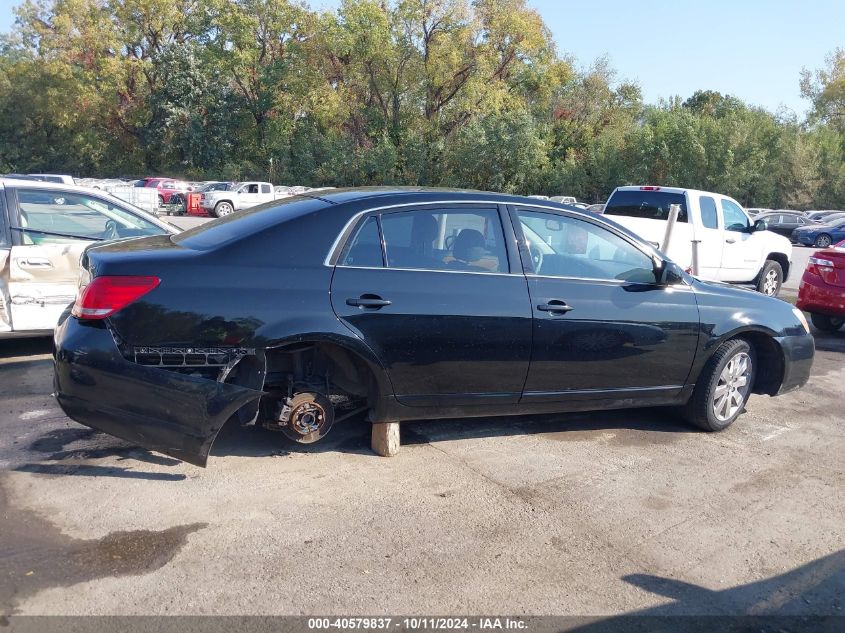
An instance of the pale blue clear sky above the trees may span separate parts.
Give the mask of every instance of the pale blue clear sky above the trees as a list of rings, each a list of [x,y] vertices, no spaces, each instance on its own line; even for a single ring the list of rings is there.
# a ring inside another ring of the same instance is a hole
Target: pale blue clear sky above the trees
[[[0,0],[0,32],[19,0]],[[339,0],[312,0],[331,10]],[[650,103],[717,90],[802,116],[801,69],[845,47],[845,0],[528,0],[581,68],[606,56]]]

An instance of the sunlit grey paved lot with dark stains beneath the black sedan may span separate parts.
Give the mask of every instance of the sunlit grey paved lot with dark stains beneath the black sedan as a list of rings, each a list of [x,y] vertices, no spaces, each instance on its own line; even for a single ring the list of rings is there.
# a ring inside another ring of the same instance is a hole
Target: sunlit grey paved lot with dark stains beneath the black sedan
[[[637,410],[403,426],[208,469],[79,426],[0,342],[0,613],[842,614],[845,335],[721,434]]]

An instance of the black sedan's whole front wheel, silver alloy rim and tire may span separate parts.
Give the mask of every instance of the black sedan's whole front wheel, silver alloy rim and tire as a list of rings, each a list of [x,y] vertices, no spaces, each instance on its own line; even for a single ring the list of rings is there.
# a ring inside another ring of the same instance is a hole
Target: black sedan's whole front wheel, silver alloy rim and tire
[[[722,343],[698,377],[687,403],[687,419],[705,431],[721,431],[733,424],[751,395],[755,364],[754,350],[745,341]]]

